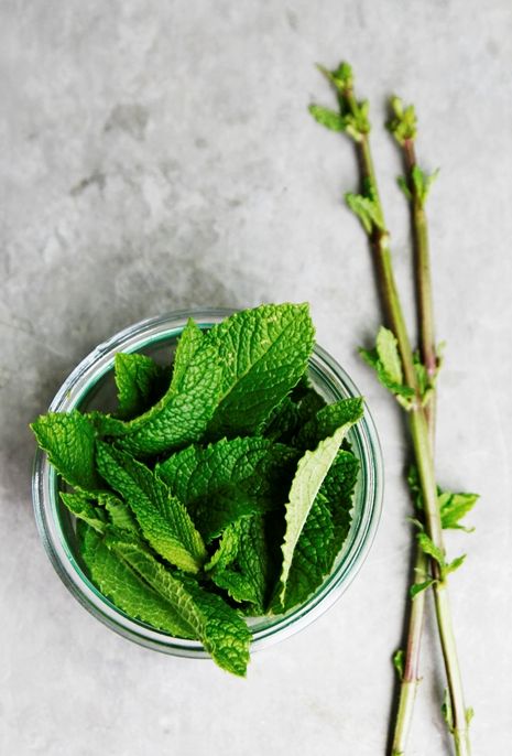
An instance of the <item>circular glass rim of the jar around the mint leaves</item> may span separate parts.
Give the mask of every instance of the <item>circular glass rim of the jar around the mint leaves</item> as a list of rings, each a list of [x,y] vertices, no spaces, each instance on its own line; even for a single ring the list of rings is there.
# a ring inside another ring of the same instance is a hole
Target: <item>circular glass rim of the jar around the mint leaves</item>
[[[113,355],[121,348],[127,352],[141,350],[149,345],[171,341],[177,332],[183,330],[189,317],[193,317],[201,327],[209,327],[239,310],[235,307],[182,309],[144,318],[119,331],[78,363],[58,389],[47,411],[70,411],[79,406],[80,400],[112,369]],[[314,346],[309,363],[312,369],[315,360],[323,378],[326,370],[329,372],[329,378],[333,385],[336,382],[338,392],[341,385],[345,396],[361,396],[350,376],[318,344]],[[323,368],[322,370],[318,365]],[[92,382],[90,382],[91,377],[95,377]],[[276,615],[272,619],[265,618],[260,627],[251,628],[251,651],[265,648],[297,633],[330,608],[352,583],[370,551],[382,511],[384,477],[382,450],[375,424],[366,402],[363,418],[353,429],[353,434],[356,439],[359,439],[359,451],[363,452],[360,458],[361,471],[364,469],[369,474],[369,478],[364,479],[369,500],[364,501],[368,504],[368,509],[362,511],[363,517],[351,549],[304,604],[286,614]],[[199,641],[173,638],[130,618],[98,591],[83,572],[62,532],[55,500],[58,497],[54,495],[56,479],[56,472],[48,463],[46,454],[37,447],[32,476],[32,498],[37,530],[55,571],[75,598],[97,619],[139,645],[175,656],[209,658]]]

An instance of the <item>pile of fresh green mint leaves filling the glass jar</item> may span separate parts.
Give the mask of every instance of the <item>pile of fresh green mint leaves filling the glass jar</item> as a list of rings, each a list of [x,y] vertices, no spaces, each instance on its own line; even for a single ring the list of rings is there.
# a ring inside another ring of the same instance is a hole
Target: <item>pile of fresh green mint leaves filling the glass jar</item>
[[[307,304],[205,331],[189,320],[170,366],[116,355],[116,413],[31,425],[99,591],[239,676],[246,617],[305,602],[350,527],[359,463],[346,434],[362,400],[326,404],[307,378],[313,346]]]

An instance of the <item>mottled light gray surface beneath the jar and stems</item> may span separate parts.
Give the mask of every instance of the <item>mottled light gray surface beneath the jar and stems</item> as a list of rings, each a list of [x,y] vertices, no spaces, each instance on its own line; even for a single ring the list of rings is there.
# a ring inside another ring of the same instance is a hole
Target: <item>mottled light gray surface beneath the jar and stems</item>
[[[385,96],[417,105],[438,334],[439,480],[482,499],[453,604],[475,754],[512,743],[510,397],[512,7],[509,0],[3,0],[1,60],[0,750],[12,756],[383,753],[411,540],[396,409],[357,357],[380,322],[340,203],[351,145],[317,127],[315,61],[352,62],[400,284],[406,208]],[[258,655],[247,681],[102,627],[35,531],[26,424],[96,344],[188,305],[307,300],[318,341],[379,425],[386,495],[356,583],[315,626]],[[408,303],[408,300],[407,300]],[[432,625],[411,756],[449,753]]]

